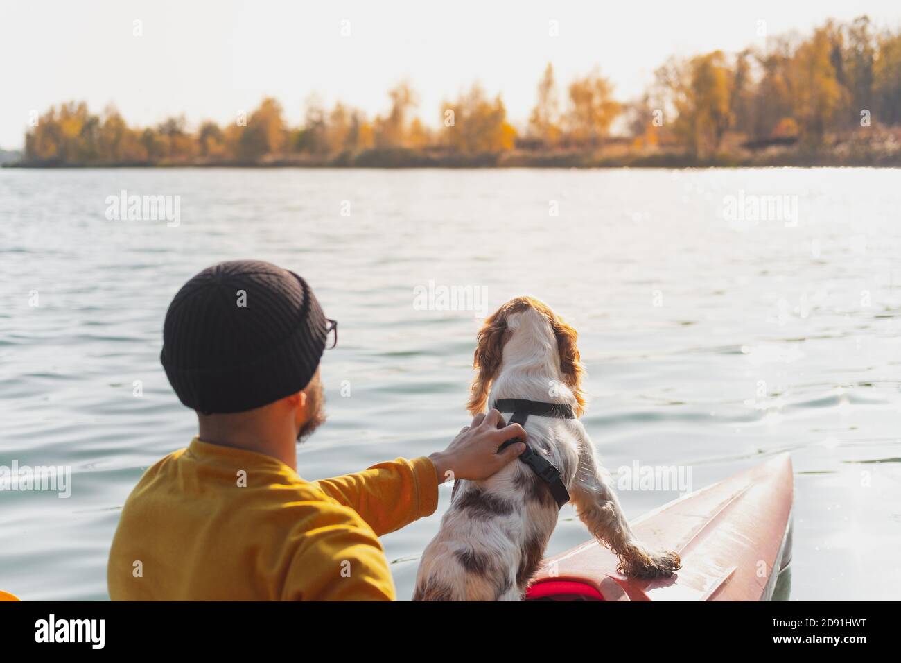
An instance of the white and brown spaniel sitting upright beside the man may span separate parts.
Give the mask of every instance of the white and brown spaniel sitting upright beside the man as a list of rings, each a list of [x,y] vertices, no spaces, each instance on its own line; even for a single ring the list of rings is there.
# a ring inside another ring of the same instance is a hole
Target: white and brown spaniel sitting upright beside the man
[[[423,551],[414,601],[522,600],[567,499],[624,576],[673,576],[680,567],[676,552],[648,550],[635,538],[602,474],[578,420],[586,400],[577,336],[531,297],[506,302],[479,330],[469,412],[496,403],[514,410],[528,437],[520,460],[532,457],[485,481],[454,482],[451,506]]]

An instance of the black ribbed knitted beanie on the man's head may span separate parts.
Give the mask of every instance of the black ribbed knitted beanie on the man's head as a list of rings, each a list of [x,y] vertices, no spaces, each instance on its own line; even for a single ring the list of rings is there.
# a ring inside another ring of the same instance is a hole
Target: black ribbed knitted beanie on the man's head
[[[323,356],[325,325],[296,273],[258,260],[220,262],[172,299],[159,359],[187,407],[252,410],[305,388]]]

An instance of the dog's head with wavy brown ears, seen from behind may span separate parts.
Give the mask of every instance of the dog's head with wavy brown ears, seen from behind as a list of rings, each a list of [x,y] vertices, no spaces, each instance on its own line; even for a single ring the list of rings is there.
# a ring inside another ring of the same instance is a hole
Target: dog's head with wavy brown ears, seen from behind
[[[510,299],[485,320],[478,331],[473,359],[476,377],[472,381],[467,408],[472,414],[485,410],[488,391],[507,353],[507,359],[551,364],[576,397],[576,414],[585,410],[582,375],[576,338],[578,334],[555,315],[549,306],[532,297]]]

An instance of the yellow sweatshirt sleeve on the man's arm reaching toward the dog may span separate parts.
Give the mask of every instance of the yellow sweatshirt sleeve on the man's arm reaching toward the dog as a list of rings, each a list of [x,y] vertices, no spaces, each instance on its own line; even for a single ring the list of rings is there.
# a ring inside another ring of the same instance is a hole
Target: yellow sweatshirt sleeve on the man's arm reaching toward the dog
[[[333,500],[359,513],[378,536],[431,516],[438,508],[438,474],[425,456],[397,458],[314,483]]]

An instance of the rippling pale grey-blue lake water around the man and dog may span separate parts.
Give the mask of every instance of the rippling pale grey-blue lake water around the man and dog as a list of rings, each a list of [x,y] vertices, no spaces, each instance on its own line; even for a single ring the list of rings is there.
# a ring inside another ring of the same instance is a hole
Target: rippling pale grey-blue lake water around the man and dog
[[[123,189],[179,197],[177,226],[108,219]],[[2,170],[0,465],[73,476],[68,499],[0,492],[0,589],[107,597],[123,501],[196,430],[159,366],[168,302],[252,257],[341,322],[305,478],[443,448],[479,316],[532,294],[578,328],[606,467],[690,467],[697,489],[790,451],[790,598],[896,599],[899,209],[898,170]],[[469,310],[414,296],[453,286]],[[400,598],[450,494],[384,539]],[[620,493],[630,516],[677,496]],[[585,539],[565,507],[549,552]]]

